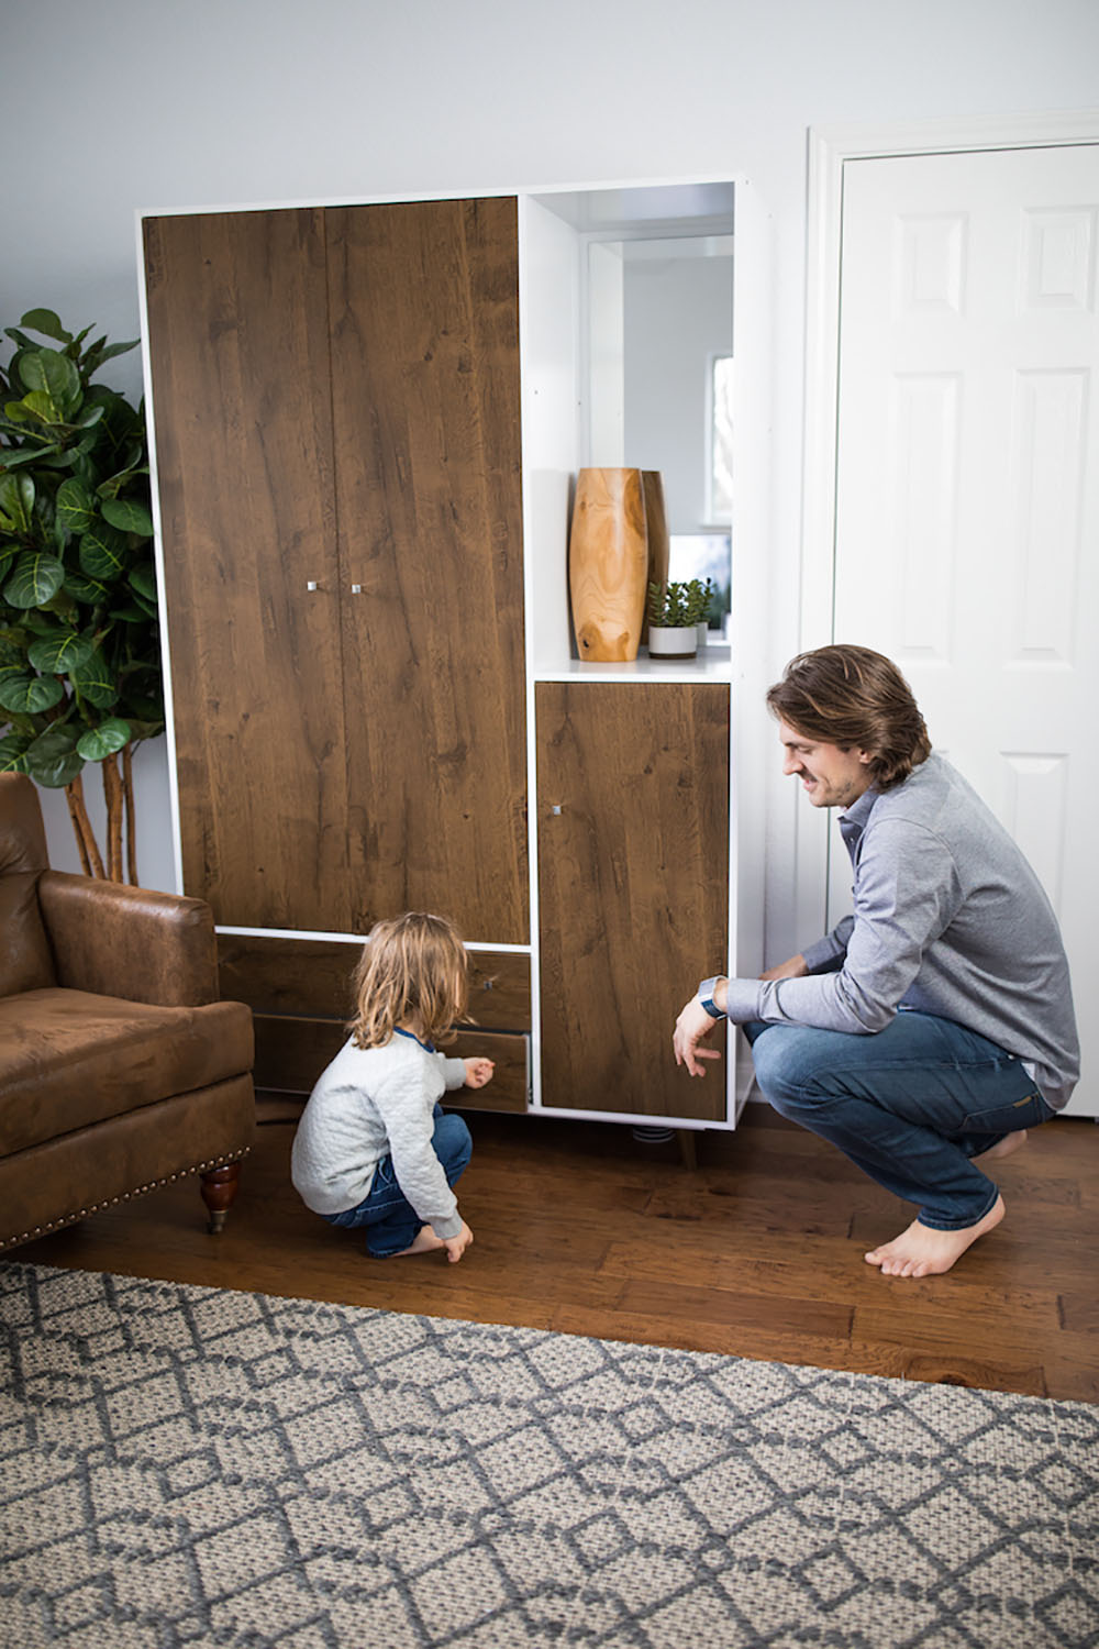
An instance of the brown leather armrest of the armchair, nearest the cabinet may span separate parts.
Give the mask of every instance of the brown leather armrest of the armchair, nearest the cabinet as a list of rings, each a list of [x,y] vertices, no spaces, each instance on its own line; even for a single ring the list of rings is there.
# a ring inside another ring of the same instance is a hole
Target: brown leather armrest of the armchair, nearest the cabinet
[[[38,904],[59,986],[160,1008],[217,1001],[214,914],[203,899],[43,871]]]

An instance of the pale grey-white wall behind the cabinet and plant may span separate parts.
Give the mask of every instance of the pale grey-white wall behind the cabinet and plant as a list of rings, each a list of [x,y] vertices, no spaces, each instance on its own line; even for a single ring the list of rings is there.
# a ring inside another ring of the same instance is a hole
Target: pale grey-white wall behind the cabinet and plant
[[[778,673],[797,646],[806,129],[1094,104],[1094,0],[5,0],[0,320],[49,305],[135,336],[137,208],[746,175],[774,228],[760,646]],[[109,381],[138,392],[137,356]],[[153,749],[140,872],[163,886]],[[806,935],[786,874],[796,798],[771,775],[765,796],[774,960]],[[76,867],[53,800],[54,862]]]

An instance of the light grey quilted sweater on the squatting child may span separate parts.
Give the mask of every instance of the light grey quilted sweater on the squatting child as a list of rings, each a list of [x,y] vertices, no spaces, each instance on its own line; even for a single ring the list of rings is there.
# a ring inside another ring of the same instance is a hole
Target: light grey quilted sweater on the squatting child
[[[466,1080],[463,1059],[445,1059],[394,1032],[386,1047],[344,1042],[302,1113],[290,1177],[315,1214],[358,1209],[374,1169],[392,1156],[402,1192],[437,1237],[461,1232],[458,1199],[435,1156],[435,1105]]]

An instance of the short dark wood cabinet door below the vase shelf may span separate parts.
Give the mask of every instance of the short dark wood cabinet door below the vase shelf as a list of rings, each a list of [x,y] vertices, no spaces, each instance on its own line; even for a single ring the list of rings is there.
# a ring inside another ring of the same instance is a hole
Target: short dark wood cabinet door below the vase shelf
[[[672,1029],[725,966],[728,688],[539,683],[542,1102],[725,1120]],[[725,1050],[725,1026],[713,1045]]]

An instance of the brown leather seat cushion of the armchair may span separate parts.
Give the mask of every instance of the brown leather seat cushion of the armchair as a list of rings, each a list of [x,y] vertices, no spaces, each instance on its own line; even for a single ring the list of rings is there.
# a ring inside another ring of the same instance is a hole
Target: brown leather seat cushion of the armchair
[[[86,991],[0,999],[0,1156],[252,1069],[242,1003],[153,1008]]]

